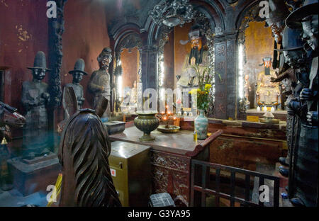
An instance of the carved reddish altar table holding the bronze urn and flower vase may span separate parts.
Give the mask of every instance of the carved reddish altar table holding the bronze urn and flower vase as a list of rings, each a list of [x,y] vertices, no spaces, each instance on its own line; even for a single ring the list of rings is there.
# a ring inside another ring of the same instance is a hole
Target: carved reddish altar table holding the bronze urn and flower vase
[[[209,162],[209,146],[222,132],[218,130],[206,140],[194,142],[193,132],[189,130],[172,134],[155,130],[152,132],[154,141],[140,142],[138,138],[142,136],[142,132],[133,126],[109,137],[111,141],[151,147],[152,193],[170,193],[176,205],[188,206],[191,193],[191,159]]]

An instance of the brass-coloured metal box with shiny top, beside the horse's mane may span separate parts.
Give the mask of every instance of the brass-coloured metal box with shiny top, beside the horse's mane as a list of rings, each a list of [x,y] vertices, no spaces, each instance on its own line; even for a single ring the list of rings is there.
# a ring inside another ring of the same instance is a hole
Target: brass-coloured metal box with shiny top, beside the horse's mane
[[[150,147],[112,142],[108,163],[123,206],[147,206],[151,194]]]

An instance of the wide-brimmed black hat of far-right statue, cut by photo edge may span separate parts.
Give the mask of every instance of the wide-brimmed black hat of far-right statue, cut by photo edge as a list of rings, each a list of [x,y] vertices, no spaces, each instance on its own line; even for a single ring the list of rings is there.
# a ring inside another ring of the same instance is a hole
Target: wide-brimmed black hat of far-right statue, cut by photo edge
[[[303,6],[297,8],[286,18],[286,26],[289,28],[302,28],[301,19],[318,14],[318,0],[305,0]]]

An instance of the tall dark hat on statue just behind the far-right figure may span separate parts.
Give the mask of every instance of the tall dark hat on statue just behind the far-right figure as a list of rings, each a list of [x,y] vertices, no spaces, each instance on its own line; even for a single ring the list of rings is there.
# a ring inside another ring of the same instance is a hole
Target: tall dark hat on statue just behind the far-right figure
[[[278,52],[284,52],[284,51],[302,49],[303,42],[301,41],[301,30],[285,27],[283,38],[282,38],[282,47],[283,49],[274,49],[274,50]]]

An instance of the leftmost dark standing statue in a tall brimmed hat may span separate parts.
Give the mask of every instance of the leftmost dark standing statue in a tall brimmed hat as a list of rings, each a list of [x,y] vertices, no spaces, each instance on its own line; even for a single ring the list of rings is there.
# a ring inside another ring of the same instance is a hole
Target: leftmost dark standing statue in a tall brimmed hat
[[[48,85],[42,80],[47,69],[45,53],[35,55],[32,70],[33,80],[25,81],[22,85],[22,105],[26,111],[26,125],[23,127],[23,157],[34,157],[48,154],[47,144],[47,104],[50,101]]]

